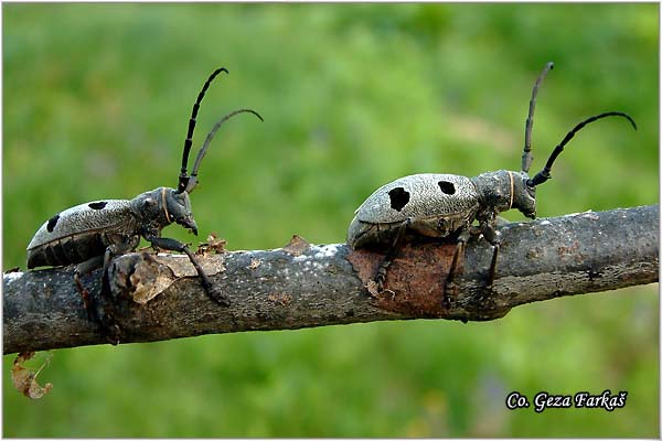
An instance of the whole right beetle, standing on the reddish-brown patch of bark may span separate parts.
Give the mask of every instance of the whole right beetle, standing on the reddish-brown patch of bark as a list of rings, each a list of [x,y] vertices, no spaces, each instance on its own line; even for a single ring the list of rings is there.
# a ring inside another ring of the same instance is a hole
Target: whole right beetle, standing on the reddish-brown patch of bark
[[[528,169],[533,162],[531,133],[536,95],[547,72],[553,67],[554,63],[547,63],[533,86],[521,171],[500,170],[474,178],[438,173],[413,174],[381,186],[355,211],[348,229],[348,245],[352,249],[386,249],[374,278],[380,291],[384,288],[387,268],[407,236],[455,240],[457,245],[445,282],[444,298],[445,305],[450,306],[448,291],[451,287],[455,288],[453,279],[460,256],[463,256],[468,233],[482,234],[493,247],[487,280],[487,287],[491,289],[501,244],[500,233],[495,228],[498,214],[516,208],[524,216],[535,218],[536,186],[552,178],[554,161],[586,125],[613,116],[627,119],[637,129],[634,120],[620,111],[589,117],[576,125],[556,146],[545,168],[533,179],[528,178]],[[477,227],[473,226],[474,220],[478,220]]]

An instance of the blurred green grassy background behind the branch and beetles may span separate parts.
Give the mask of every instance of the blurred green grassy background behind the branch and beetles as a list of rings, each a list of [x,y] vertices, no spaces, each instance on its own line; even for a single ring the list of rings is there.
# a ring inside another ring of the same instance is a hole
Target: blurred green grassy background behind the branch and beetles
[[[229,249],[344,240],[402,175],[532,172],[585,129],[538,190],[538,215],[656,203],[658,6],[3,4],[3,261],[53,214],[175,185],[227,111],[192,196]],[[194,153],[195,154],[194,150]],[[512,220],[521,216],[508,213]],[[181,228],[166,235],[193,240]],[[516,308],[502,320],[370,323],[57,351],[40,401],[13,390],[6,437],[659,437],[658,286]],[[627,390],[627,406],[510,411],[517,390]]]

